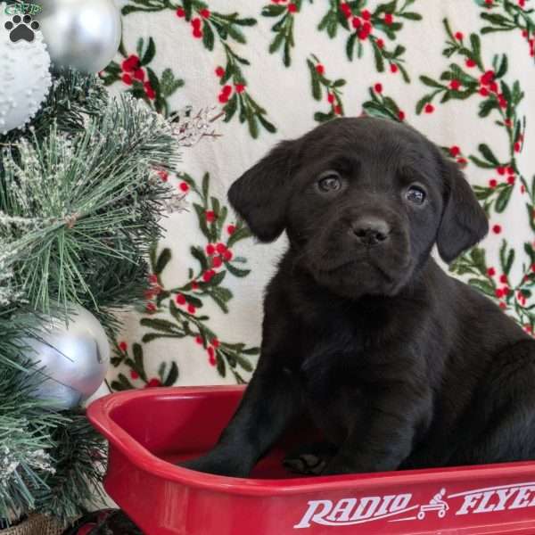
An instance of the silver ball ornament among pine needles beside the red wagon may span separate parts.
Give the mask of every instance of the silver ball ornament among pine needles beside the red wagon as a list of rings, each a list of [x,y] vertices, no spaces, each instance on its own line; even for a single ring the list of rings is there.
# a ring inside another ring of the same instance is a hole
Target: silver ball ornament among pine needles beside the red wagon
[[[76,407],[103,383],[110,365],[110,344],[93,314],[80,306],[70,307],[69,325],[54,319],[38,339],[25,339],[27,357],[37,364],[44,381],[36,387],[39,399],[55,407]]]

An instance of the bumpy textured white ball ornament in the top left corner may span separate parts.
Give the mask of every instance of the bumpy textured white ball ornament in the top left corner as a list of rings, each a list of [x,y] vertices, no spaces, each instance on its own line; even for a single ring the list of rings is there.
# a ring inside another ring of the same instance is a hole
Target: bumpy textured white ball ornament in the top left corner
[[[50,56],[41,33],[35,32],[31,42],[21,39],[13,43],[5,29],[12,15],[5,13],[5,6],[0,3],[0,134],[24,128],[52,85]]]

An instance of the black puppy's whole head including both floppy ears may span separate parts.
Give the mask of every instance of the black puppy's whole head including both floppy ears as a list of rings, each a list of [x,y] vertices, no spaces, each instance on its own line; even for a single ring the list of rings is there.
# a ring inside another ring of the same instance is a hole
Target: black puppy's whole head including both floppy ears
[[[286,230],[300,268],[351,298],[395,295],[434,243],[450,262],[488,232],[456,164],[384,119],[337,119],[283,142],[228,196],[261,241]]]

